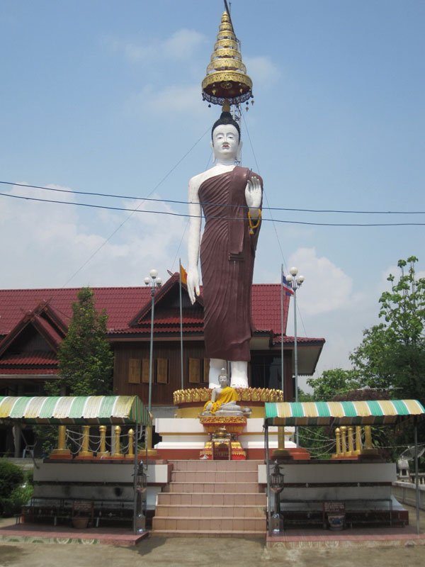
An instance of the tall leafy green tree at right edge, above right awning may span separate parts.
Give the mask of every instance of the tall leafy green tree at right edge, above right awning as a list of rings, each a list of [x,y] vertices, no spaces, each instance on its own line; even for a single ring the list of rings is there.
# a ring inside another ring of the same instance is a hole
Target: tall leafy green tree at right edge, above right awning
[[[399,260],[399,279],[390,274],[391,291],[380,296],[382,322],[363,333],[351,354],[361,385],[391,388],[392,397],[425,402],[425,279],[416,277],[411,256]]]

